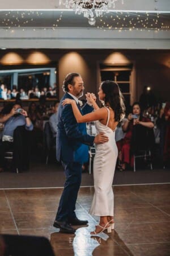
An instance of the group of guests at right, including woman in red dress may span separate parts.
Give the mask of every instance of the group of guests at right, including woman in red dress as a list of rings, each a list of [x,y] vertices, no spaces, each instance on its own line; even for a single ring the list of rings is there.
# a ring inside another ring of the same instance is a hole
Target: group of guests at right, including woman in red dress
[[[138,126],[141,129],[141,141],[148,144],[150,141],[150,149],[155,151],[157,148],[157,156],[160,164],[164,167],[169,166],[170,159],[170,102],[166,104],[158,104],[155,106],[145,105],[142,108],[141,102],[135,102],[131,106],[130,113],[126,114],[126,118],[119,123],[116,130],[116,142],[118,148],[118,165],[121,171],[128,167],[133,167],[133,147],[134,128]],[[150,130],[148,138],[142,137],[142,127]],[[139,130],[138,129],[138,130]],[[152,138],[154,141],[152,141]],[[137,147],[137,146],[136,146]]]

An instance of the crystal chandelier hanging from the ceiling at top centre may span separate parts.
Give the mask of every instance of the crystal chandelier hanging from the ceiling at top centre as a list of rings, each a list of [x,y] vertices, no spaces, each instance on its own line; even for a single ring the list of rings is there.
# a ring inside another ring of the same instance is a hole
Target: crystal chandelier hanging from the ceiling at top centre
[[[82,14],[88,19],[88,23],[94,26],[96,17],[108,13],[109,8],[115,7],[117,0],[59,0],[59,5],[65,5],[67,9],[75,10],[75,14]],[[123,0],[122,0],[123,3]]]

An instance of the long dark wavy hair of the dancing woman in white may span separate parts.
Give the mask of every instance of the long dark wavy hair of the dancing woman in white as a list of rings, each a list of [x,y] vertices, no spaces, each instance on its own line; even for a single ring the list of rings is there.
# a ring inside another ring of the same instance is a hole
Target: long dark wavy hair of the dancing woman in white
[[[104,104],[114,110],[114,119],[120,122],[125,116],[125,104],[118,84],[113,81],[104,81],[101,83],[101,89],[105,93]]]

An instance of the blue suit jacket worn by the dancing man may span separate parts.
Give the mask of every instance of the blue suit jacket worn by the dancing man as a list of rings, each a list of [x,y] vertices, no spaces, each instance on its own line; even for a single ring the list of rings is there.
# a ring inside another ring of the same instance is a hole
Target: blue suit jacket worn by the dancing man
[[[62,106],[65,98],[73,99],[66,93],[59,104],[57,113],[56,156],[63,162],[85,163],[88,160],[88,146],[94,143],[94,136],[86,131],[86,123],[77,123],[70,104]],[[83,109],[78,108],[82,114],[92,112],[91,106],[86,104]]]

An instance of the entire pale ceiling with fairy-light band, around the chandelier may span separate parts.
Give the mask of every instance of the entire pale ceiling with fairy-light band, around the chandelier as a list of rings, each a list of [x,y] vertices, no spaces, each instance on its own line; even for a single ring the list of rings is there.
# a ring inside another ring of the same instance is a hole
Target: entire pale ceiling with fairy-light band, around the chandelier
[[[169,49],[169,1],[117,0],[91,26],[59,0],[0,0],[0,49]]]

